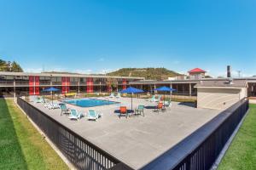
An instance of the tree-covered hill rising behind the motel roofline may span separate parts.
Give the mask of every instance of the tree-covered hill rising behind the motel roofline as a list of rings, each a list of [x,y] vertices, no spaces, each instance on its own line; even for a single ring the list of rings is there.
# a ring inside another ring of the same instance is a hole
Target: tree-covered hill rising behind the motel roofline
[[[123,68],[109,72],[108,76],[116,77],[145,77],[149,80],[165,80],[168,77],[181,76],[181,74],[166,68]]]

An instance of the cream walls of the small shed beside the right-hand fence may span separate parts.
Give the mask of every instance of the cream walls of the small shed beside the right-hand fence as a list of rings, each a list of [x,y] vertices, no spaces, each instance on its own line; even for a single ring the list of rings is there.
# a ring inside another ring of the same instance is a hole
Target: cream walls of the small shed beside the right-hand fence
[[[197,107],[224,110],[247,97],[247,88],[197,88]]]

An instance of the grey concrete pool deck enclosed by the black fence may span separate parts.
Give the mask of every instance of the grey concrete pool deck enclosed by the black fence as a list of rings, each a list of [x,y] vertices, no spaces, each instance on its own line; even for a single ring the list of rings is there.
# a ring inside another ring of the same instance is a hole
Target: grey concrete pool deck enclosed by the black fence
[[[98,145],[102,150],[108,151],[120,161],[136,169],[153,161],[219,113],[219,111],[196,109],[176,102],[172,102],[172,107],[166,111],[157,113],[150,109],[156,105],[155,103],[145,99],[133,99],[134,108],[143,104],[148,109],[145,109],[145,116],[131,116],[126,119],[125,116],[119,118],[114,112],[119,110],[120,105],[131,107],[131,99],[111,100],[119,101],[120,104],[93,108],[103,114],[97,122],[88,121],[86,118],[71,121],[68,116],[60,115],[60,109],[48,110],[42,104],[34,105]],[[74,105],[68,105],[68,107],[84,113],[89,109]]]

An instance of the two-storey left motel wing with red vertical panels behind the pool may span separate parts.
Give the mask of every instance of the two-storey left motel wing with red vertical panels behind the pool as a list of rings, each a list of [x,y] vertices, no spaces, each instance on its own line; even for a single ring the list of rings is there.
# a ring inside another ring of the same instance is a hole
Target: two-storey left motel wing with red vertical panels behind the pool
[[[26,73],[0,71],[0,97],[40,95],[44,88],[55,87],[61,94],[107,93],[125,89],[129,82],[143,77],[108,77],[83,74]],[[110,87],[108,80],[116,83]]]

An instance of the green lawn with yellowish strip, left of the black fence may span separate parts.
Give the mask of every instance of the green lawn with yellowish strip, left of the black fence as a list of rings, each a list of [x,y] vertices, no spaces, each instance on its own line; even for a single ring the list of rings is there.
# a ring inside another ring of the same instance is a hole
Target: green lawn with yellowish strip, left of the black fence
[[[0,99],[0,169],[68,169],[12,99]]]

